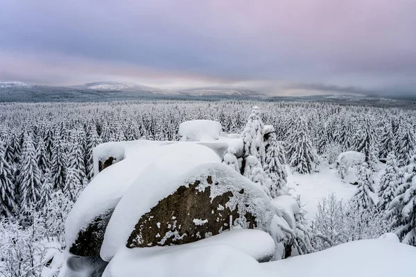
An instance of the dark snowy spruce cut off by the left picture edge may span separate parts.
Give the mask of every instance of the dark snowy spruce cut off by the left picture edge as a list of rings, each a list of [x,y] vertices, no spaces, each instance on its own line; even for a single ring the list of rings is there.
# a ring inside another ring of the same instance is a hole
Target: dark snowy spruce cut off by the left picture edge
[[[16,208],[15,186],[10,163],[6,161],[5,144],[0,141],[0,218],[12,217]]]

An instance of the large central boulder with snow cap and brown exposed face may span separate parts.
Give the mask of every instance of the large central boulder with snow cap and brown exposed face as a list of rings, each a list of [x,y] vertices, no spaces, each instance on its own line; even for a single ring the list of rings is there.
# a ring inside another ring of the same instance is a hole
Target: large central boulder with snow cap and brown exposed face
[[[230,222],[268,231],[274,211],[261,187],[220,163],[209,148],[193,146],[159,157],[128,189],[105,231],[104,260],[111,260],[125,245],[208,238],[229,229]],[[208,222],[199,225],[194,219]]]

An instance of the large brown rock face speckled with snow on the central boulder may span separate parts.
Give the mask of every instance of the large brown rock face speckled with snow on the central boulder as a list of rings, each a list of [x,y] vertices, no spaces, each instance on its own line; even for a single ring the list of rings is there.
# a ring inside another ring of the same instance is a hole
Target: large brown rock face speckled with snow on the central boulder
[[[266,196],[252,194],[241,185],[229,186],[227,179],[208,175],[188,186],[180,186],[141,216],[126,246],[196,242],[229,229],[230,224],[247,229],[267,229],[270,224],[265,224],[264,217],[271,220],[271,213],[262,213],[261,208],[265,208],[269,200]],[[259,205],[263,201],[264,205]],[[267,208],[264,211],[268,211]]]

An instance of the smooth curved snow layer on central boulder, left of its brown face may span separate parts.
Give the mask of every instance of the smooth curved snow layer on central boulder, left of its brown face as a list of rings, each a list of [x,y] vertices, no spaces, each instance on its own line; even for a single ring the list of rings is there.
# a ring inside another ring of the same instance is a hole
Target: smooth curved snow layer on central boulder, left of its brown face
[[[141,215],[182,185],[181,175],[202,163],[221,161],[213,150],[198,144],[175,143],[163,148],[163,154],[149,163],[116,206],[101,247],[104,260],[110,260],[127,242]]]

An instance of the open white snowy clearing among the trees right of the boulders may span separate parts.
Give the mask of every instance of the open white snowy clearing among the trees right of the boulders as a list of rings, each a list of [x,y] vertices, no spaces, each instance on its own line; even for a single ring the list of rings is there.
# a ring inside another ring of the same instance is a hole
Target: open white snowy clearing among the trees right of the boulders
[[[374,175],[374,190],[379,189],[379,179],[383,174],[385,165],[379,163],[379,172]],[[356,181],[356,172],[352,172],[341,179],[337,175],[337,170],[334,166],[322,164],[319,166],[319,172],[313,172],[310,175],[301,175],[297,172],[291,173],[291,168],[286,166],[288,172],[288,186],[291,188],[291,195],[300,195],[303,209],[308,213],[307,217],[313,219],[316,211],[316,205],[323,197],[328,197],[333,193],[338,199],[348,201],[356,192],[356,186],[350,184]],[[378,201],[376,193],[372,193],[372,198],[376,203]]]

